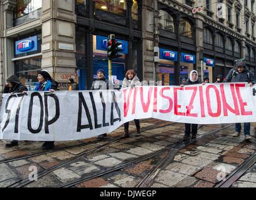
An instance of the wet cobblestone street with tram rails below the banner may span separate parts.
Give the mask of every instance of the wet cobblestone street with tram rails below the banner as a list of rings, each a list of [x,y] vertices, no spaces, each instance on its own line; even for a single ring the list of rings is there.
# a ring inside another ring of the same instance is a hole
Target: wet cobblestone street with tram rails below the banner
[[[179,143],[184,124],[147,119],[141,129],[137,138],[120,139],[120,127],[102,140],[56,143],[53,151],[28,141],[6,149],[0,141],[0,187],[215,187],[256,151],[254,137],[231,136],[233,124],[199,126],[188,144]],[[31,181],[35,169],[38,180]],[[256,187],[256,165],[232,187]]]

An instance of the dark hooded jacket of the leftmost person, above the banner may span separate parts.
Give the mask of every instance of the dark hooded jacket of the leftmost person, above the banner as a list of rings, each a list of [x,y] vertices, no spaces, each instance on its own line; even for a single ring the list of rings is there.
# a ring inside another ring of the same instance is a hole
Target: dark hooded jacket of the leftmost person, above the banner
[[[11,82],[13,84],[13,88],[5,86],[4,93],[22,93],[23,91],[28,91],[28,88],[24,86],[15,75],[9,76],[6,81]]]

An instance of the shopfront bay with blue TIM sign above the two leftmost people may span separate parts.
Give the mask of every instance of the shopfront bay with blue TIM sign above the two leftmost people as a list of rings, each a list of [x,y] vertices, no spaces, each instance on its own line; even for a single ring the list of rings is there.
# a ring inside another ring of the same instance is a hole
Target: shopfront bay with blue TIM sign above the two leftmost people
[[[14,55],[14,73],[29,90],[33,90],[37,82],[37,73],[41,70],[41,33],[16,39]]]

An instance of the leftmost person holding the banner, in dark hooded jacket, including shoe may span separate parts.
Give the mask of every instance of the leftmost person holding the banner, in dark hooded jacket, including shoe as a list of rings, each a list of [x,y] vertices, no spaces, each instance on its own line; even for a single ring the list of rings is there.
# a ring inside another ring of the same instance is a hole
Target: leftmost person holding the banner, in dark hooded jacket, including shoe
[[[28,91],[28,88],[24,86],[21,81],[19,81],[18,77],[15,75],[11,75],[6,79],[6,86],[4,88],[4,93],[23,93],[24,91]],[[6,144],[6,148],[11,148],[13,146],[18,146],[18,141],[11,141],[11,143]]]

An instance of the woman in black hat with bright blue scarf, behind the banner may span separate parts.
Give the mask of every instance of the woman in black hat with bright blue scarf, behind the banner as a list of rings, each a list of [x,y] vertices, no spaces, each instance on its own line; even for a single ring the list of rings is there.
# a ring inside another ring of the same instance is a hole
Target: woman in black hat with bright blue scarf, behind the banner
[[[36,85],[35,91],[50,91],[53,93],[58,89],[58,83],[51,79],[50,74],[46,70],[38,73],[38,84]],[[54,149],[54,141],[46,141],[43,143],[42,148],[44,150]]]

